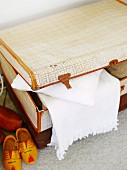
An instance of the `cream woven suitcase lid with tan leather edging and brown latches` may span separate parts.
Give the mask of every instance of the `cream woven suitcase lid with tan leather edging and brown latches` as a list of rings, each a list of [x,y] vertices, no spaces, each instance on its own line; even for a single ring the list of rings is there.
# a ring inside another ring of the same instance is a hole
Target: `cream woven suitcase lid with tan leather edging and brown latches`
[[[127,7],[102,0],[6,29],[0,50],[34,90],[69,88],[70,78],[127,59]]]

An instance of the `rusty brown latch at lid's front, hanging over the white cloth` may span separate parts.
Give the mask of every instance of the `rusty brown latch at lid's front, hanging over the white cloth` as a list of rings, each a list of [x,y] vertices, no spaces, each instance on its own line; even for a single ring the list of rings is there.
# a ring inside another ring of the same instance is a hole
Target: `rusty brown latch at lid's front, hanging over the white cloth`
[[[69,84],[70,76],[71,76],[70,73],[58,76],[58,80],[61,81],[66,86],[67,89],[71,88],[71,85]]]

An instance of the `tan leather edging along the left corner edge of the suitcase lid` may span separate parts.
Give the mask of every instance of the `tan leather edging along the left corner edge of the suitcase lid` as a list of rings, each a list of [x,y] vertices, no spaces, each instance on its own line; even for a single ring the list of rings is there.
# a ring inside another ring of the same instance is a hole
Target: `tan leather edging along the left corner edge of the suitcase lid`
[[[9,46],[2,39],[0,39],[0,45],[2,45],[16,59],[16,61],[24,68],[24,70],[29,74],[31,78],[32,89],[38,90],[39,86],[37,85],[37,80],[36,80],[36,77],[33,71],[30,70],[29,67],[26,66],[26,64],[17,56],[17,54],[15,54],[14,51],[12,51],[9,48]]]

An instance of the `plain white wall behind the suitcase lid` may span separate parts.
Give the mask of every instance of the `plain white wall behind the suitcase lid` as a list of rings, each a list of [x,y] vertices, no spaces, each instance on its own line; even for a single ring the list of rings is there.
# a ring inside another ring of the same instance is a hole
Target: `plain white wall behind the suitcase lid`
[[[96,0],[0,0],[0,29]]]

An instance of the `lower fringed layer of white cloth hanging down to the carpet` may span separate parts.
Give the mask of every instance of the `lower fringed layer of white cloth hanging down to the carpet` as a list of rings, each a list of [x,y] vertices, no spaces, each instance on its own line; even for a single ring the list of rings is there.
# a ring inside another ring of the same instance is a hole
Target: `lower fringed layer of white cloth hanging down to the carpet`
[[[53,122],[51,145],[55,145],[59,160],[64,158],[65,151],[73,141],[88,137],[90,134],[95,135],[117,129],[120,82],[105,70],[100,75],[93,106],[40,93],[38,96],[51,115]]]

